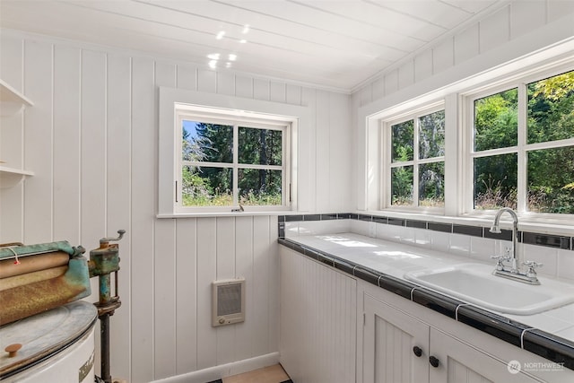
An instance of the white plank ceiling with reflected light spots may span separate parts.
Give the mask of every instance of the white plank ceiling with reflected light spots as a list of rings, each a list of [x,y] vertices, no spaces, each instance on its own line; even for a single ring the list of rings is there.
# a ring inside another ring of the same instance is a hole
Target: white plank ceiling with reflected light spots
[[[350,91],[504,3],[0,0],[0,25]]]

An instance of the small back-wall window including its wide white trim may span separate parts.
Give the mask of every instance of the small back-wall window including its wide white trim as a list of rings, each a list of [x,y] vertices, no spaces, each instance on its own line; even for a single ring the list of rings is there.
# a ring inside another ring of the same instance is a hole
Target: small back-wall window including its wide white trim
[[[160,87],[157,216],[297,210],[309,120],[298,105]]]

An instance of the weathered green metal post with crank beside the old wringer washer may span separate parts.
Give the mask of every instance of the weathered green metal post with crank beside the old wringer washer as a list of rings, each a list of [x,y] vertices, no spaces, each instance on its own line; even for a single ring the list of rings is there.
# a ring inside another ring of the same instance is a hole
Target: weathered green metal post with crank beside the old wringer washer
[[[117,293],[117,271],[119,270],[119,253],[117,244],[110,244],[111,241],[122,239],[125,230],[118,230],[117,238],[100,239],[100,248],[90,251],[88,266],[90,277],[97,276],[100,283],[100,300],[94,305],[98,309],[100,318],[100,351],[101,351],[101,379],[106,383],[111,383],[109,373],[109,317],[119,308],[122,302]],[[114,273],[114,295],[111,292],[111,274]]]

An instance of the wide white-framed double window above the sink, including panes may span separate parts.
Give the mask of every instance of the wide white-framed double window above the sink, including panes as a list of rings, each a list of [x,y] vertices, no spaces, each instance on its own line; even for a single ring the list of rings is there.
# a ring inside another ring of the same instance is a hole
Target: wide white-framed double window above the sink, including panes
[[[445,215],[483,225],[508,206],[533,228],[552,223],[570,230],[570,45],[453,80],[437,89],[426,83],[405,88],[358,109],[364,149],[357,156],[359,209],[406,219]],[[420,94],[404,99],[409,91]]]

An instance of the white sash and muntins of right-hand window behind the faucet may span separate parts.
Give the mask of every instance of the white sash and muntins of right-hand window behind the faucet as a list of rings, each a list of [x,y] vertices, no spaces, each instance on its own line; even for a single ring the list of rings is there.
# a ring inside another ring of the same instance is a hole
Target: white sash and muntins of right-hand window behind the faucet
[[[464,99],[464,119],[465,129],[463,133],[464,145],[459,153],[459,157],[464,163],[464,193],[463,193],[463,211],[461,213],[467,215],[492,215],[497,210],[483,210],[474,209],[474,159],[499,155],[517,153],[517,208],[516,211],[523,217],[528,217],[532,221],[538,220],[571,220],[572,214],[558,214],[558,213],[536,213],[527,212],[527,153],[541,149],[552,149],[564,146],[574,145],[574,138],[548,141],[544,143],[527,144],[527,85],[535,83],[536,81],[544,80],[545,78],[554,75],[563,74],[574,70],[572,64],[568,65],[555,65],[550,69],[531,71],[527,74],[518,74],[512,81],[504,83],[496,83],[491,86],[484,86],[479,91],[467,92],[463,94]],[[474,151],[474,101],[488,97],[501,91],[509,91],[517,89],[517,145],[509,146],[506,148],[498,148],[485,150],[480,152]]]

